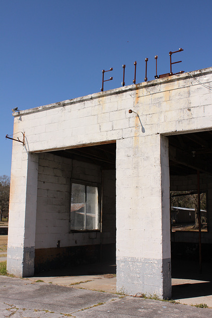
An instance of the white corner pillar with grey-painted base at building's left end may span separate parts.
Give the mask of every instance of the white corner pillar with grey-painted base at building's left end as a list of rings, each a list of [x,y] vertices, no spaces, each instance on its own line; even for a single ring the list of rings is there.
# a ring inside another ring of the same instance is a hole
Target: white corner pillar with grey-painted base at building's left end
[[[13,142],[7,271],[21,277],[34,274],[38,155]]]

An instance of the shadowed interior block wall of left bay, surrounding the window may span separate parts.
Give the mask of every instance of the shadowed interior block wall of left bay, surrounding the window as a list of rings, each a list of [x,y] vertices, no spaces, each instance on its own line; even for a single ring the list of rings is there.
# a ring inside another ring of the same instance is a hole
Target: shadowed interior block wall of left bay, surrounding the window
[[[71,179],[101,185],[101,166],[49,153],[39,154],[35,237],[35,249],[37,254],[40,255],[39,258],[41,258],[41,254],[48,253],[46,249],[51,249],[48,260],[54,261],[54,257],[59,253],[58,241],[60,241],[60,248],[100,243],[115,244],[115,173],[108,170],[104,174],[104,184],[102,186],[102,223],[104,226],[102,233],[99,231],[95,234],[88,232],[71,233]],[[65,249],[62,249],[62,251],[66,253]],[[39,263],[39,266],[41,265]]]

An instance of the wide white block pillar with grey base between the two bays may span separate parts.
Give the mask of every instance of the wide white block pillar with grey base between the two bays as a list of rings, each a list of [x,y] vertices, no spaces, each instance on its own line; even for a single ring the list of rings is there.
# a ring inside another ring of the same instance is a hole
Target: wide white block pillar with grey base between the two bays
[[[117,141],[117,291],[171,297],[167,138]]]

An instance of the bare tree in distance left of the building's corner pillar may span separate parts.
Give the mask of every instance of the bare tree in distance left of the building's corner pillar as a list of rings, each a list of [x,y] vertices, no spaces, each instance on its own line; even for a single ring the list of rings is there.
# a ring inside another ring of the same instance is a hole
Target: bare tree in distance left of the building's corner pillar
[[[7,217],[9,212],[10,179],[7,175],[0,175],[0,221],[2,216]]]

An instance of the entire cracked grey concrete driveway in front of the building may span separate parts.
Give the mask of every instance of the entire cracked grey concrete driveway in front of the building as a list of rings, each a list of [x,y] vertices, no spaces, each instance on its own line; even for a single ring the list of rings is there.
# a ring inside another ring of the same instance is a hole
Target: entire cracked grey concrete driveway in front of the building
[[[212,309],[0,276],[0,318],[212,318]]]

